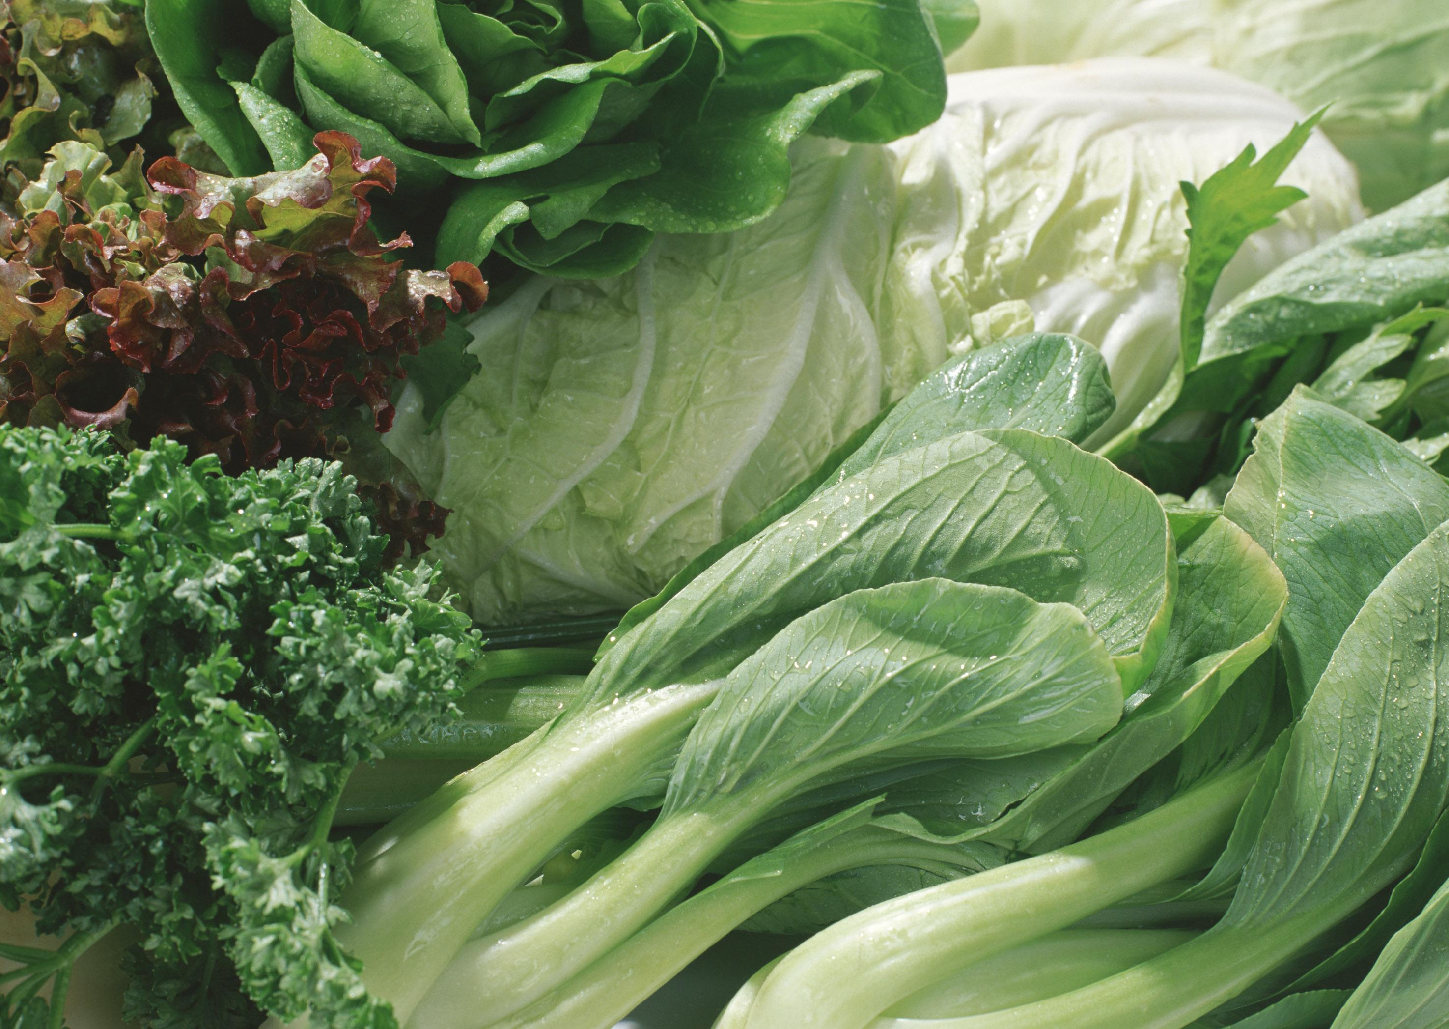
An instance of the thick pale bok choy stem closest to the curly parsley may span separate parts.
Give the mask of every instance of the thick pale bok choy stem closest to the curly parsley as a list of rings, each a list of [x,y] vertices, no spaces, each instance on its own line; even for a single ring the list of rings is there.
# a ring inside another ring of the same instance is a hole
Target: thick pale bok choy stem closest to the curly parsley
[[[445,790],[406,832],[367,845],[338,939],[406,1023],[497,903],[580,825],[639,794],[674,759],[717,684],[674,686],[530,738]],[[501,771],[500,771],[501,770]]]

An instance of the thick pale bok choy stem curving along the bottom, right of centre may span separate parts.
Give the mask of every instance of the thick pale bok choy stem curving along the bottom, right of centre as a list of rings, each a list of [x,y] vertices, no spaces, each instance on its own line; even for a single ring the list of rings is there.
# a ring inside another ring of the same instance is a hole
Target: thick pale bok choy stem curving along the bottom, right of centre
[[[1227,839],[1259,765],[1059,851],[836,923],[793,951],[767,980],[751,1029],[862,1029],[956,968],[1204,867]]]

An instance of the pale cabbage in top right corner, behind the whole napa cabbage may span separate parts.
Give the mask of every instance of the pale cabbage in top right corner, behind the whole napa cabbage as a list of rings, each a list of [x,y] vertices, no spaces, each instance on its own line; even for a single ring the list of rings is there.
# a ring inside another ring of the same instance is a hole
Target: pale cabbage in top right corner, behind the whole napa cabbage
[[[1384,210],[1449,175],[1443,0],[981,0],[953,71],[1095,57],[1171,57],[1268,86],[1358,167]]]

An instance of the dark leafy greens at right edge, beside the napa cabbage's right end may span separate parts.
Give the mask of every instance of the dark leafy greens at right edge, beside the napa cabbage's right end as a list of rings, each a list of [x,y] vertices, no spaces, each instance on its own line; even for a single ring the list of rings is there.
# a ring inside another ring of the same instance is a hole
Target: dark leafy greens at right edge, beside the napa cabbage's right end
[[[1119,441],[1116,459],[1166,490],[1233,475],[1255,422],[1298,383],[1395,438],[1423,430],[1433,457],[1446,243],[1442,184],[1284,262],[1208,319],[1198,364],[1137,420],[1137,439]],[[1400,384],[1411,371],[1413,386]]]

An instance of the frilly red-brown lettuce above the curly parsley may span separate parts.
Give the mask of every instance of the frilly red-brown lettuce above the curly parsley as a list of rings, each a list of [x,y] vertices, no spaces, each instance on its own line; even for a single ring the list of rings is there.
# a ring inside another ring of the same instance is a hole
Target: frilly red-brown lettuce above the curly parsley
[[[81,142],[55,146],[33,183],[12,171],[0,420],[170,436],[230,472],[346,461],[349,436],[387,432],[403,358],[442,335],[445,310],[477,309],[487,284],[467,262],[406,268],[407,235],[369,228],[368,196],[394,188],[393,162],[341,132],[314,145],[300,168],[249,178],[177,158],[142,175],[139,154],[107,174]],[[388,478],[398,468],[355,471],[394,541],[417,548],[440,530],[445,513]]]

